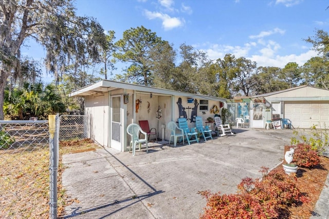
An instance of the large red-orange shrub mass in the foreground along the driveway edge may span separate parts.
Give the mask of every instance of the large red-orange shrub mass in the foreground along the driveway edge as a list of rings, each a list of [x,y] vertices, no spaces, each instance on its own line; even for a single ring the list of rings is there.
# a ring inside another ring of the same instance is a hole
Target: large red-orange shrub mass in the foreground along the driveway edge
[[[244,178],[237,186],[238,194],[200,192],[207,199],[201,218],[277,218],[280,209],[307,201],[296,188],[294,176],[283,170],[267,170],[262,168],[262,180]]]

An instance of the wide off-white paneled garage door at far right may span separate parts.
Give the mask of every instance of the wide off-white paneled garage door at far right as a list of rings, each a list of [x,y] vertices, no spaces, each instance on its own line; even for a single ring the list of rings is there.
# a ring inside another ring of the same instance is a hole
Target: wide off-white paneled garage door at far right
[[[295,128],[328,127],[329,102],[284,102],[284,117],[289,118]]]

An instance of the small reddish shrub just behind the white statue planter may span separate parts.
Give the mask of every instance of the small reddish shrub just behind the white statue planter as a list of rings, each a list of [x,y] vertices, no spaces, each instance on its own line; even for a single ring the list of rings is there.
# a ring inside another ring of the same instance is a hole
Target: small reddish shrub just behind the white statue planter
[[[320,157],[312,146],[300,143],[295,146],[293,162],[299,167],[312,168],[320,164]]]

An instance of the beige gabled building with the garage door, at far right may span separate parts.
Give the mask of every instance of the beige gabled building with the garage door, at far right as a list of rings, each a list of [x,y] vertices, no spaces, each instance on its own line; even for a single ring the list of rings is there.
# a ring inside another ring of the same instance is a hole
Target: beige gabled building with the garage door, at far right
[[[250,127],[264,128],[266,121],[288,118],[295,128],[329,125],[329,90],[299,86],[250,97]]]

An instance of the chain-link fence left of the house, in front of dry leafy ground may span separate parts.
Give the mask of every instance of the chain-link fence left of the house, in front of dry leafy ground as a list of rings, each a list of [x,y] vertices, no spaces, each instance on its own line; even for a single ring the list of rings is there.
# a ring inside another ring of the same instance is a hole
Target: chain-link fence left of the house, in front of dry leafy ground
[[[59,139],[87,138],[87,124],[61,115]],[[0,218],[50,217],[49,146],[48,121],[0,121]]]

